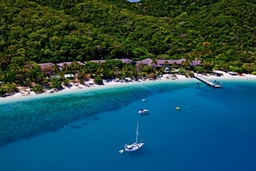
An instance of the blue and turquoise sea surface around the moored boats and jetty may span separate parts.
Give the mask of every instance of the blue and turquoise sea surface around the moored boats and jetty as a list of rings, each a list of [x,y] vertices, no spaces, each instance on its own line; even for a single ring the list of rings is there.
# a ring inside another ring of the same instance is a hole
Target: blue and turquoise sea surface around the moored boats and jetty
[[[255,171],[256,80],[197,82],[2,100],[0,171]],[[137,121],[144,146],[119,154]]]

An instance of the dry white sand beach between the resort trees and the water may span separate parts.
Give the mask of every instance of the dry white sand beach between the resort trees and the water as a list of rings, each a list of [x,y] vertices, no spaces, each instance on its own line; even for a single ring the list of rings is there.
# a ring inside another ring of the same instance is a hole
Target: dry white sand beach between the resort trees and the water
[[[249,79],[255,79],[256,80],[256,76],[255,75],[251,75],[251,74],[242,74],[242,75],[231,75],[229,73],[223,72],[223,71],[215,71],[216,73],[220,73],[222,74],[221,76],[218,75],[202,75],[202,74],[198,74],[200,77],[203,77],[209,81],[212,80],[249,80]],[[172,74],[164,74],[162,75],[161,78],[154,80],[154,82],[157,81],[185,81],[185,80],[190,80],[190,79],[195,79],[195,78],[187,78],[184,75],[178,75],[176,74],[175,77]],[[64,87],[61,91],[57,91],[55,92],[54,90],[46,90],[44,93],[42,94],[36,94],[35,92],[33,92],[30,89],[23,89],[20,90],[20,92],[15,93],[13,95],[10,96],[6,96],[6,97],[0,97],[0,102],[4,102],[4,101],[15,101],[15,100],[26,100],[26,99],[30,99],[31,97],[46,97],[46,96],[54,96],[55,94],[63,94],[63,93],[71,93],[71,92],[77,92],[77,91],[81,91],[81,90],[96,90],[96,89],[101,89],[101,88],[115,88],[115,87],[119,87],[119,86],[123,86],[123,85],[127,85],[127,84],[141,84],[142,82],[149,82],[152,80],[138,80],[138,81],[134,81],[134,80],[103,80],[104,85],[96,85],[93,83],[93,79],[86,81],[85,84],[77,84],[77,83],[71,83],[70,87]]]

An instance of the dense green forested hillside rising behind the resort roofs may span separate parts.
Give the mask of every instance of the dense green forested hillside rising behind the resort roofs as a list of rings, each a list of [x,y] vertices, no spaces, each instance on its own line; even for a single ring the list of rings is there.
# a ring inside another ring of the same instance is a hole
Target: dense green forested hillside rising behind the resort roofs
[[[256,0],[1,0],[0,11],[2,71],[14,57],[186,58],[256,71]]]

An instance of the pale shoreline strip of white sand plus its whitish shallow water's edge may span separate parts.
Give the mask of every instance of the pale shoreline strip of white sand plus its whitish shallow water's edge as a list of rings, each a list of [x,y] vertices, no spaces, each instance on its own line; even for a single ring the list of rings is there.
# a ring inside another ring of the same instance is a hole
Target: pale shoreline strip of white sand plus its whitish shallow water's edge
[[[227,80],[227,81],[231,81],[231,80],[252,80],[255,79],[256,80],[256,76],[255,75],[251,75],[251,74],[243,74],[241,75],[237,75],[237,76],[232,76],[228,73],[221,72],[223,75],[222,76],[215,76],[215,75],[200,75],[201,77],[209,80],[209,81],[214,81],[214,80]],[[24,92],[17,92],[13,95],[9,95],[6,97],[0,97],[0,104],[3,103],[10,103],[10,102],[18,102],[18,101],[24,101],[24,100],[31,100],[34,98],[47,98],[47,97],[51,97],[51,96],[57,96],[57,95],[63,95],[63,94],[69,94],[69,93],[77,93],[79,91],[95,91],[97,89],[108,89],[108,88],[117,88],[117,87],[122,87],[122,86],[127,86],[127,85],[136,85],[136,84],[143,84],[143,83],[159,83],[162,81],[168,81],[168,82],[181,82],[181,81],[191,81],[191,80],[197,80],[196,78],[187,78],[184,75],[176,75],[176,78],[173,79],[171,78],[170,74],[164,74],[160,79],[156,79],[156,80],[139,80],[139,81],[128,81],[128,82],[116,82],[114,80],[103,80],[104,85],[96,85],[93,84],[93,80],[91,79],[90,81],[87,81],[86,84],[87,85],[82,85],[82,84],[73,84],[71,87],[64,87],[62,90],[51,93],[52,90],[46,90],[44,93],[40,93],[40,94],[36,94],[33,91],[28,91],[27,95],[24,94]],[[90,85],[88,87],[88,84]]]

